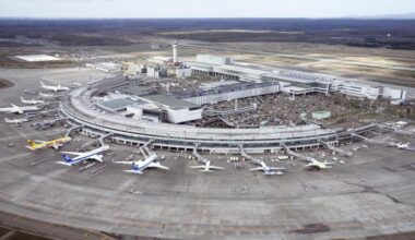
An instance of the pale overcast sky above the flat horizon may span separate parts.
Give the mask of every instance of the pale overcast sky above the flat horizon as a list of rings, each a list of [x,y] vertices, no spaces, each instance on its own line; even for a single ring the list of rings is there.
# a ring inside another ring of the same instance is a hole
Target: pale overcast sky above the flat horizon
[[[415,13],[415,0],[0,0],[2,17],[341,17]]]

